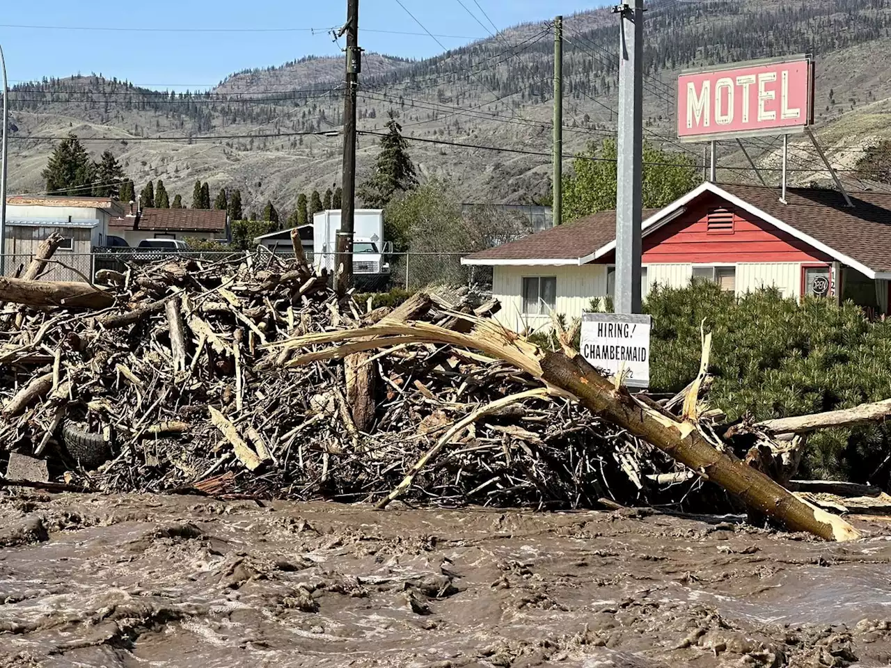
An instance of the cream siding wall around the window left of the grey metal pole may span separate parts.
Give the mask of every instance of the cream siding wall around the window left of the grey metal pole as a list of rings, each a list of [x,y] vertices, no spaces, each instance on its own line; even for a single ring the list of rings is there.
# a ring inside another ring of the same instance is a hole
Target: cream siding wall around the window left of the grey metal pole
[[[579,318],[587,310],[592,297],[607,293],[606,265],[584,266],[495,266],[492,292],[501,300],[498,322],[511,330],[546,327],[548,315],[523,314],[523,278],[526,276],[556,276],[557,299],[555,311],[569,319]]]

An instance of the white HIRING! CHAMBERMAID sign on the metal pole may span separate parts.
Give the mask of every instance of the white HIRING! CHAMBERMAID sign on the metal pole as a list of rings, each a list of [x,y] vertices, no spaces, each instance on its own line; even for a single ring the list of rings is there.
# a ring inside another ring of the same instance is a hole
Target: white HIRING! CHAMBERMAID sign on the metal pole
[[[625,370],[628,387],[650,386],[650,316],[583,314],[582,356],[615,376]]]

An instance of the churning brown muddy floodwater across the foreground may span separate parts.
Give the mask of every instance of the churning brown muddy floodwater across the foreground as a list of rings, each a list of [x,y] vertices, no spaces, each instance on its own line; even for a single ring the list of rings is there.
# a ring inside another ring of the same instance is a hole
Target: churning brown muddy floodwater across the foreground
[[[0,499],[0,666],[879,666],[891,525]]]

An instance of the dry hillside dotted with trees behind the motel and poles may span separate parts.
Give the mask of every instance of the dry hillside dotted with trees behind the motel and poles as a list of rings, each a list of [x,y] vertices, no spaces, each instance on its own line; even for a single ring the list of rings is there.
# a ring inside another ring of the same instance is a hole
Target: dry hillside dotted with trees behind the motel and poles
[[[671,151],[702,146],[674,137],[674,77],[681,69],[784,53],[814,53],[818,134],[840,167],[891,136],[888,56],[891,9],[878,0],[667,0],[647,12],[646,138]],[[470,17],[468,17],[470,20]],[[608,10],[565,20],[566,152],[615,132],[616,18]],[[360,37],[361,39],[361,37]],[[339,59],[304,58],[225,78],[212,91],[184,96],[101,77],[17,86],[11,94],[10,190],[41,191],[51,139],[69,132],[98,155],[113,151],[137,189],[163,179],[191,200],[196,179],[211,191],[241,188],[248,208],[272,200],[280,211],[298,193],[339,182],[342,75]],[[831,97],[830,97],[831,91]],[[366,54],[359,128],[380,132],[388,111],[404,126],[423,177],[442,177],[462,200],[527,202],[549,189],[552,133],[552,34],[525,24],[424,61]],[[378,138],[359,140],[359,178]],[[513,151],[449,145],[495,147]],[[780,143],[747,141],[759,165],[779,178]],[[813,148],[792,142],[793,181],[825,181]],[[722,147],[722,180],[752,182],[736,144]],[[846,174],[846,183],[862,187]]]

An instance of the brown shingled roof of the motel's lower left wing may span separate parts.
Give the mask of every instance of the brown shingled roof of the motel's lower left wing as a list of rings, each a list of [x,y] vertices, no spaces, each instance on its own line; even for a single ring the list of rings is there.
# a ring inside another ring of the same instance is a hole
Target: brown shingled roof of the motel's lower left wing
[[[643,210],[647,218],[658,209]],[[616,238],[616,212],[601,211],[571,223],[536,232],[496,248],[467,256],[469,260],[577,260]]]

